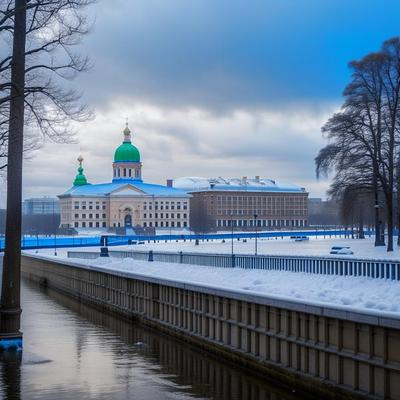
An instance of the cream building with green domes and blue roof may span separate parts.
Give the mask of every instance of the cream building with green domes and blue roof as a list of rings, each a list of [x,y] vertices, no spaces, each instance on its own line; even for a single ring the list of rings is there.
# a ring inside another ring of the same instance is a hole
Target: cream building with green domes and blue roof
[[[61,228],[103,228],[123,233],[132,228],[188,228],[190,204],[185,191],[145,183],[139,150],[131,142],[128,125],[115,150],[112,181],[90,184],[78,158],[73,185],[59,195]]]

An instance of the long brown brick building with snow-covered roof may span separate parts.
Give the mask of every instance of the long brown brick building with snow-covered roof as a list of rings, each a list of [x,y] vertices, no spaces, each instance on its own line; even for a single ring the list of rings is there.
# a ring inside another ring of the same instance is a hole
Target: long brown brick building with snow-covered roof
[[[304,228],[308,193],[271,179],[178,178],[173,186],[192,195],[191,227],[195,231]]]

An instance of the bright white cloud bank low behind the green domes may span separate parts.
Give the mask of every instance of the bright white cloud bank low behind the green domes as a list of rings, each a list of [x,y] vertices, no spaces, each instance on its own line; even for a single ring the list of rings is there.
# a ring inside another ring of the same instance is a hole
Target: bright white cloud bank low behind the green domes
[[[56,195],[68,189],[80,153],[90,182],[110,181],[125,116],[148,182],[165,183],[167,178],[187,175],[261,175],[323,195],[326,182],[316,183],[313,159],[323,145],[320,126],[334,108],[216,115],[199,108],[165,109],[123,98],[98,110],[94,121],[78,126],[79,145],[47,144],[26,161],[25,195]]]

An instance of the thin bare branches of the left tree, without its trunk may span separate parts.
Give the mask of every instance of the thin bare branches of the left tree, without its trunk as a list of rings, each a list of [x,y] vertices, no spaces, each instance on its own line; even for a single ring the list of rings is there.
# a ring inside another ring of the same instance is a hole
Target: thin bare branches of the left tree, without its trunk
[[[91,116],[79,99],[81,92],[68,81],[90,68],[86,56],[73,49],[90,31],[85,11],[95,0],[27,0],[25,50],[24,149],[35,150],[47,137],[64,143],[74,139],[70,121]],[[0,0],[0,39],[13,35],[14,1]],[[0,53],[0,158],[7,154],[10,106],[11,49]],[[6,162],[0,163],[0,169]]]

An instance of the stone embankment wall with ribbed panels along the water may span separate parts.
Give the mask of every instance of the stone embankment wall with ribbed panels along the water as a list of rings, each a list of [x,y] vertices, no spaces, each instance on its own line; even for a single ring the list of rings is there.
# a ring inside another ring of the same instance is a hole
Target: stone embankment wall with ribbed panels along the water
[[[24,256],[23,275],[316,398],[400,399],[400,320]],[[267,375],[266,375],[267,376]]]

